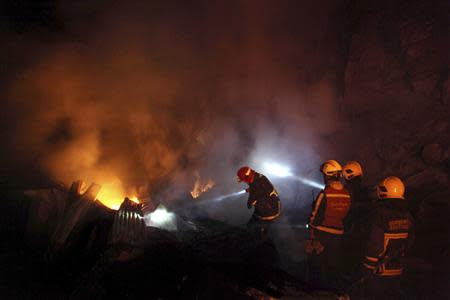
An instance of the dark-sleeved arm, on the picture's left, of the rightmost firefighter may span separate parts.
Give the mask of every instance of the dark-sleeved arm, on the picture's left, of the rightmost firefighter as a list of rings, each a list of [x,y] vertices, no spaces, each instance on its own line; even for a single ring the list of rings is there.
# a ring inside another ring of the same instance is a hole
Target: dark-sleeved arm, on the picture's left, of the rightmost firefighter
[[[375,215],[371,220],[366,255],[363,260],[363,271],[374,273],[380,263],[384,251],[384,228],[382,220]]]

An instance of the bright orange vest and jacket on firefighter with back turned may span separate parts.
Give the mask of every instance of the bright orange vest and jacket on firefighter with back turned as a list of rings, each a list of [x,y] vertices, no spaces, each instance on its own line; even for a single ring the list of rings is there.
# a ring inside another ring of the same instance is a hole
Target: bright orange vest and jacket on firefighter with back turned
[[[333,181],[320,191],[309,217],[308,225],[331,234],[344,233],[344,219],[351,205],[348,191],[339,181]]]

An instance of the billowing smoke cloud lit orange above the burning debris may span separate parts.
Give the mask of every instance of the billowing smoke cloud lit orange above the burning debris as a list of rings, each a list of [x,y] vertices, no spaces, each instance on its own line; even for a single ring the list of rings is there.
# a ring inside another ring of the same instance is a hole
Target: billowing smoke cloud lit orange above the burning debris
[[[5,173],[176,198],[197,172],[226,193],[241,164],[316,170],[339,123],[336,4],[72,2],[59,31],[8,32],[22,63],[7,70]]]

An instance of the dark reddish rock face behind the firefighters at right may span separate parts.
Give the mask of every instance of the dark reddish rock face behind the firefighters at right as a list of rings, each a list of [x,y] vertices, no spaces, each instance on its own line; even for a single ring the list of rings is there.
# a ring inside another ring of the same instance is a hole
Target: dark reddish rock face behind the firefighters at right
[[[450,4],[351,3],[341,108],[350,128],[342,134],[352,147],[343,157],[362,162],[370,185],[389,175],[404,180],[417,225],[413,252],[444,270],[450,232],[444,217],[450,213]]]

